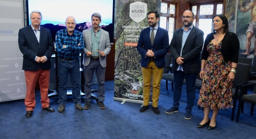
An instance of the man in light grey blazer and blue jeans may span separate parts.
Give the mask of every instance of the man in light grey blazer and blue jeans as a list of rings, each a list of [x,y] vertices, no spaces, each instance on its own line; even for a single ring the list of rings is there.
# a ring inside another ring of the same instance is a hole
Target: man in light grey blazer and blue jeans
[[[103,103],[105,99],[105,70],[106,70],[106,56],[110,52],[111,46],[109,41],[109,34],[100,28],[101,15],[99,13],[92,14],[92,27],[83,31],[85,42],[84,48],[84,76],[85,76],[85,104],[84,109],[88,109],[91,103],[92,94],[92,79],[94,70],[98,80],[97,94],[99,101],[97,104],[100,109],[104,109]]]

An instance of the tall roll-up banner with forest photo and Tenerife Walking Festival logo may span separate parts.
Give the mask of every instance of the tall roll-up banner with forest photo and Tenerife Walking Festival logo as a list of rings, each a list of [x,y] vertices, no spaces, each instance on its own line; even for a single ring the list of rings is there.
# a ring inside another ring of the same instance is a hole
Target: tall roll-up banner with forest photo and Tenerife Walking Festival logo
[[[147,13],[160,7],[161,0],[115,1],[114,100],[143,103],[141,55],[136,46],[140,32],[149,27]],[[152,102],[152,90],[150,94]]]

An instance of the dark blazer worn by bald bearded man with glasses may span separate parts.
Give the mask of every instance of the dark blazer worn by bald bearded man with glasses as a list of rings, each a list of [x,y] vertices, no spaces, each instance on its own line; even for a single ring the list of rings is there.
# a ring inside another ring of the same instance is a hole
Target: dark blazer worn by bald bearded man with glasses
[[[176,71],[178,63],[176,59],[180,57],[180,51],[182,48],[182,35],[183,29],[179,28],[174,31],[173,37],[170,43],[170,51],[172,58],[174,59],[172,70]],[[183,64],[182,68],[185,73],[198,73],[200,70],[200,52],[204,44],[204,32],[193,26],[190,31],[184,47],[182,49]]]

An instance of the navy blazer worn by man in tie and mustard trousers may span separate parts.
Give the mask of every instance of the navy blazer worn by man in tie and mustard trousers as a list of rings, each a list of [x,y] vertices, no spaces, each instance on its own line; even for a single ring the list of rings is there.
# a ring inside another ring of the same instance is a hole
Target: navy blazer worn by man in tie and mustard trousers
[[[148,50],[152,50],[155,54],[154,62],[157,67],[162,68],[165,65],[164,56],[169,49],[169,36],[168,32],[159,27],[156,31],[153,46],[150,41],[150,27],[141,31],[140,38],[137,44],[137,50],[141,54],[141,66],[147,67],[150,57],[146,56]]]

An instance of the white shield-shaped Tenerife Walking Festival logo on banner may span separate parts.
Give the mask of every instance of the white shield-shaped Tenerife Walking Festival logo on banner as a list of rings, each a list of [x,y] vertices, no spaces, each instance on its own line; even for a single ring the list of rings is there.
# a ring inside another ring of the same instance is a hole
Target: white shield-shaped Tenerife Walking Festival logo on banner
[[[134,2],[130,4],[130,18],[139,23],[147,17],[147,3]]]

